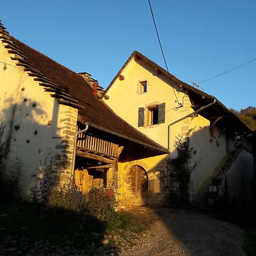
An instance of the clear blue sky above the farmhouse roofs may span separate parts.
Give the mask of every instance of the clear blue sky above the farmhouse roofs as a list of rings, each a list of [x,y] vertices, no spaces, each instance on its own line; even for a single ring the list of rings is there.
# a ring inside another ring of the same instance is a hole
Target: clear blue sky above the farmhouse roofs
[[[256,58],[255,0],[151,0],[169,71],[200,82]],[[2,1],[15,38],[106,87],[135,49],[164,67],[147,0]],[[228,108],[256,106],[256,61],[200,84]]]

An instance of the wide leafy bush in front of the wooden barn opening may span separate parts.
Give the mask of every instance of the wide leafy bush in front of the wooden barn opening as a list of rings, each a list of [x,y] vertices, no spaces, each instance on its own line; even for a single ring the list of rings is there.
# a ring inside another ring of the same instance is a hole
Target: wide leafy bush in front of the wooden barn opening
[[[55,188],[49,195],[47,217],[90,227],[93,223],[112,223],[117,216],[117,201],[104,188],[92,188],[82,194],[73,188]],[[44,209],[44,208],[42,208]]]

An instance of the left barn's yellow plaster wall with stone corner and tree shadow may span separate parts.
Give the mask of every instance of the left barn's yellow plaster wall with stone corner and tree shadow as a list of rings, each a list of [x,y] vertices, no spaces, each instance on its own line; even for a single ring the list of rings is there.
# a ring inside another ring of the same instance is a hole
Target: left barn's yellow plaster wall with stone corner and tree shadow
[[[5,125],[3,140],[10,146],[6,170],[16,158],[22,163],[20,183],[27,199],[39,169],[51,155],[56,157],[52,170],[62,169],[63,176],[69,176],[77,110],[60,105],[44,92],[11,56],[0,42],[0,123]]]

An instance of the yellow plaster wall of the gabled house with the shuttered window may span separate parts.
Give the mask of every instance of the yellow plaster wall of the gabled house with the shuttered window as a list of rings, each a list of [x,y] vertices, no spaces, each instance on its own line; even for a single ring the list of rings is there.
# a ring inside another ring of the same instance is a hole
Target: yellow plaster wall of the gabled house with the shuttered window
[[[141,63],[141,64],[140,64]],[[176,97],[172,87],[170,86],[170,80],[164,75],[158,75],[154,69],[147,63],[135,62],[131,60],[129,64],[123,69],[122,75],[124,80],[115,80],[113,85],[106,93],[109,96],[108,100],[104,100],[106,104],[114,110],[121,118],[125,119],[130,125],[147,135],[149,138],[158,142],[164,147],[168,145],[168,125],[177,119],[184,117],[185,115],[192,113],[194,110],[191,108],[191,102],[187,95],[186,90],[181,90],[178,84],[173,83],[176,96],[180,103],[183,104],[183,108],[177,108]],[[147,81],[147,92],[139,93],[138,84],[140,81]],[[165,122],[159,125],[138,127],[138,108],[145,108],[148,105],[162,104],[166,102],[166,117]],[[192,159],[191,165],[196,160],[201,159],[201,163],[197,167],[196,171],[192,175],[191,193],[196,193],[201,184],[212,174],[214,168],[227,154],[226,152],[226,135],[221,135],[220,138],[210,142],[209,133],[210,122],[200,114],[193,118],[186,118],[180,121],[170,128],[170,151],[171,157],[175,157],[176,151],[174,148],[174,142],[177,135],[185,135],[189,129],[194,129],[191,137],[191,146],[197,149],[196,156]],[[200,129],[204,127],[204,129]],[[214,127],[214,133],[216,136],[220,130]],[[216,137],[217,138],[217,137]],[[230,146],[233,147],[233,144]],[[148,160],[145,160],[146,162]],[[150,159],[150,162],[154,162],[157,166],[162,162],[158,157]],[[149,169],[150,170],[150,169]],[[157,189],[153,189],[153,194]]]

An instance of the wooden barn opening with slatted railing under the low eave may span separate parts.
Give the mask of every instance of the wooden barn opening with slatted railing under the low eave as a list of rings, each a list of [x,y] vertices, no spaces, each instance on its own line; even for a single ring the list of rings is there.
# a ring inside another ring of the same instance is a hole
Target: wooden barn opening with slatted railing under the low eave
[[[77,123],[77,131],[84,125]],[[110,188],[117,177],[118,156],[123,150],[118,138],[89,128],[77,137],[74,182],[83,193],[92,188]]]

